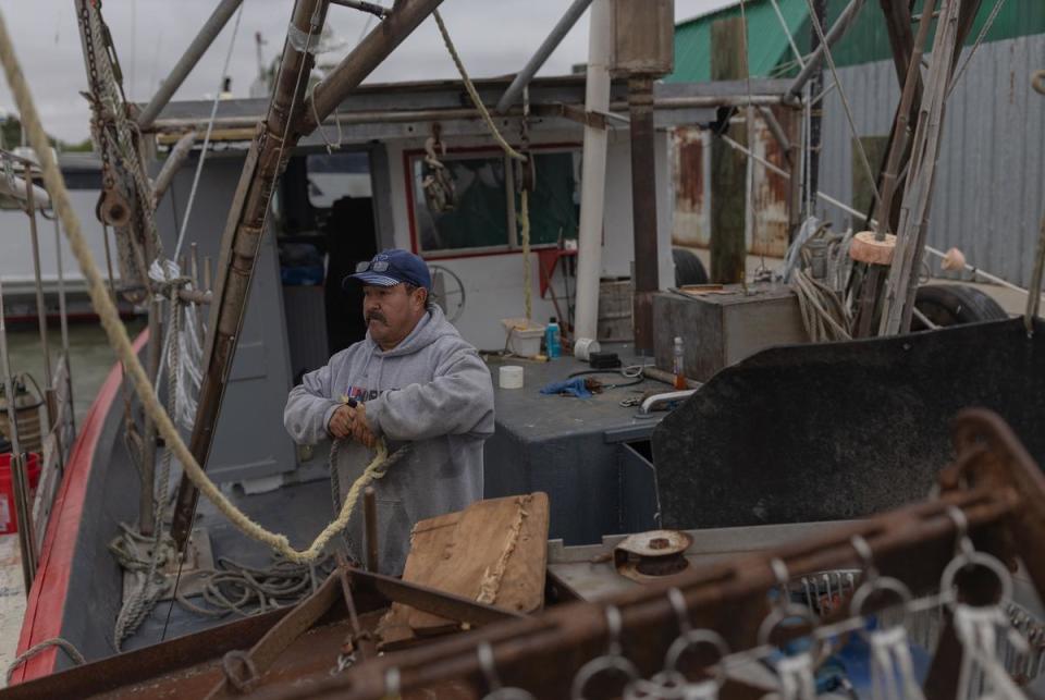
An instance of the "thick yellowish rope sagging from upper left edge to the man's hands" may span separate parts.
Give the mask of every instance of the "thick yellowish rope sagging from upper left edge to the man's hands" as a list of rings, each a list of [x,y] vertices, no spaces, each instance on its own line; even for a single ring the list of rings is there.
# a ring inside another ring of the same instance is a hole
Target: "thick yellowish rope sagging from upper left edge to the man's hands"
[[[84,237],[79,218],[73,210],[61,171],[54,161],[47,133],[40,122],[39,113],[33,101],[33,95],[25,82],[22,66],[14,53],[14,45],[11,42],[8,25],[2,12],[0,12],[0,63],[3,64],[4,75],[7,76],[8,85],[11,87],[11,93],[14,96],[14,101],[22,118],[22,124],[25,127],[29,145],[36,151],[37,158],[40,161],[44,183],[51,195],[54,212],[62,222],[62,228],[65,230],[70,247],[73,250],[73,255],[76,256],[76,261],[79,263],[79,268],[87,281],[87,293],[90,296],[91,305],[95,308],[95,312],[98,314],[101,326],[109,339],[109,344],[112,346],[120,361],[123,363],[125,371],[130,374],[135,393],[137,393],[143,408],[156,422],[160,435],[162,435],[165,444],[173,452],[174,456],[182,463],[185,474],[192,482],[237,529],[247,537],[275,550],[292,562],[316,561],[322,554],[327,543],[347,526],[355,502],[346,499],[337,518],[329,524],[308,548],[295,550],[291,547],[290,540],[285,535],[271,532],[251,520],[229,501],[214,482],[207,477],[195,457],[193,457],[192,452],[189,452],[185,445],[171,417],[163,409],[163,406],[160,405],[156,393],[152,391],[152,384],[145,372],[145,368],[142,367],[142,363],[131,345],[127,330],[124,328],[112,300],[109,298],[101,273],[98,271],[94,255]],[[366,483],[369,483],[369,481],[374,478],[374,475],[381,471],[381,465],[386,456],[388,447],[383,441],[379,442],[377,455],[360,477],[360,480],[367,481],[358,489],[356,484],[354,484],[349,491],[349,495],[353,492],[358,495]]]

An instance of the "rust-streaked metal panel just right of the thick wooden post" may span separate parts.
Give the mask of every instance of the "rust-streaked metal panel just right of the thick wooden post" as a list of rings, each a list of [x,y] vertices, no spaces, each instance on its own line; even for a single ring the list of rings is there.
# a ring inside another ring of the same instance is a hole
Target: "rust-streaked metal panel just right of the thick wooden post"
[[[784,132],[789,133],[791,110],[783,107],[772,109]],[[753,132],[754,155],[784,170],[789,170],[784,149],[780,148],[761,114],[755,115]],[[783,258],[787,253],[790,183],[787,177],[772,172],[755,160],[748,159],[748,177],[753,176],[748,211],[754,212],[753,225],[752,218],[748,217],[748,253]]]

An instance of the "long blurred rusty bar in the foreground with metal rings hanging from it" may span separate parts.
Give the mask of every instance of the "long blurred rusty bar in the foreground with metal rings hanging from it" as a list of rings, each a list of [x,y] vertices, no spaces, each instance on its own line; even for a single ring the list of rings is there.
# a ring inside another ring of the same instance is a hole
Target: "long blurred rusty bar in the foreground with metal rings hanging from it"
[[[984,425],[978,425],[976,421]],[[984,439],[987,441],[989,450],[980,447],[980,441]],[[860,566],[862,562],[849,543],[852,535],[860,533],[873,543],[875,562],[884,574],[905,578],[911,582],[915,590],[924,590],[926,587],[938,585],[939,570],[954,553],[954,524],[947,515],[947,508],[950,505],[963,508],[970,519],[970,532],[974,537],[989,536],[993,530],[1000,527],[1012,529],[1013,525],[1021,525],[1020,519],[1024,517],[1024,514],[1033,513],[1033,521],[1030,527],[1024,526],[1022,528],[1024,530],[1023,541],[1021,542],[1017,538],[1018,550],[1024,556],[1033,556],[1042,537],[1045,537],[1045,530],[1043,530],[1045,528],[1045,478],[1037,470],[1033,459],[1026,455],[1004,423],[986,412],[971,412],[960,417],[956,431],[956,443],[960,453],[959,466],[966,471],[972,468],[969,463],[976,464],[980,468],[993,469],[991,471],[993,476],[991,482],[985,481],[978,484],[976,490],[972,492],[947,490],[939,501],[918,504],[898,513],[880,516],[869,523],[855,524],[831,535],[814,538],[806,543],[780,548],[775,553],[752,555],[734,564],[709,567],[702,572],[687,575],[681,579],[676,579],[674,582],[686,593],[690,610],[700,609],[702,605],[709,609],[722,609],[730,602],[738,601],[745,602],[750,607],[758,603],[760,598],[764,604],[764,591],[775,584],[775,578],[766,565],[770,557],[776,555],[784,558],[788,569],[795,576],[813,570],[838,568],[843,565],[856,564]],[[958,471],[952,478],[960,479],[961,476],[962,471]],[[942,477],[945,488],[947,478],[947,472],[945,472]],[[973,521],[975,521],[975,525],[973,525]],[[1019,531],[1019,527],[1016,531]],[[984,542],[980,542],[981,548],[983,548],[983,544]],[[910,551],[912,545],[918,548],[917,553]],[[991,551],[994,548],[985,549]],[[684,581],[683,579],[686,578],[690,580]],[[704,586],[700,587],[693,582],[693,579],[700,579],[700,582],[703,582]],[[690,585],[686,586],[686,584]],[[1035,578],[1036,586],[1041,587],[1043,584],[1045,584],[1045,580],[1038,582],[1038,579]],[[662,598],[666,585],[660,585],[657,588],[661,590],[656,592],[639,590],[612,601],[622,609],[626,628],[631,625],[641,626],[642,623],[656,625],[657,619],[668,621],[672,618],[671,606]],[[720,590],[715,590],[716,588]],[[722,590],[725,588],[728,588],[728,592]],[[647,610],[643,610],[640,615],[639,610],[628,606],[629,599],[641,603]],[[653,603],[659,605],[660,611],[649,610]],[[514,681],[513,674],[517,673],[517,670],[512,666],[513,663],[522,664],[528,670],[545,668],[554,666],[556,663],[566,663],[567,649],[583,643],[581,640],[569,638],[570,627],[568,623],[578,619],[593,607],[598,606],[575,605],[545,615],[542,619],[490,628],[470,638],[452,640],[453,648],[452,642],[446,642],[441,653],[434,648],[418,649],[399,655],[397,660],[394,658],[385,659],[381,663],[372,664],[373,673],[364,674],[364,667],[360,667],[354,676],[355,683],[351,686],[353,692],[348,697],[379,697],[384,690],[384,673],[392,667],[398,670],[403,679],[402,687],[405,690],[448,677],[454,673],[457,673],[459,677],[476,677],[479,675],[477,663],[474,661],[474,656],[468,654],[468,650],[474,649],[480,640],[491,643],[504,639],[511,640],[511,642],[504,644],[500,650],[502,653],[495,658],[502,680],[511,684]],[[552,618],[554,618],[554,622]],[[541,623],[550,624],[552,628],[550,629]],[[558,625],[555,626],[554,623],[558,623]],[[730,624],[735,625],[736,621],[730,621]],[[589,626],[593,629],[602,629],[604,623],[601,616],[593,615],[589,619]],[[671,627],[672,625],[669,622],[665,622],[664,626]],[[509,627],[513,634],[505,634]],[[589,636],[590,631],[591,629],[588,629]],[[673,629],[671,633],[674,636]],[[527,641],[534,642],[534,640],[536,643],[525,643]],[[639,663],[637,652],[647,649],[650,640],[636,639],[630,629],[626,634],[625,640],[626,644],[630,641],[631,647],[634,647],[634,649],[626,649],[629,659]],[[551,650],[542,649],[542,644],[546,643],[556,646]],[[499,649],[495,648],[495,651],[499,651]],[[661,649],[656,649],[653,653],[654,665],[651,670],[655,668],[655,662],[659,660],[657,654],[661,651]],[[546,653],[548,658],[540,658],[542,653]],[[600,650],[597,648],[594,653],[600,653]],[[948,653],[945,648],[937,660],[937,665],[943,666],[947,656]],[[540,663],[541,661],[550,663],[545,665]],[[446,674],[448,674],[446,675],[441,668],[446,670],[450,665],[455,665],[455,668],[453,672],[446,671]],[[418,668],[418,666],[423,667]],[[643,667],[640,665],[640,668]],[[949,668],[952,671],[954,665]],[[571,671],[569,670],[569,673]],[[414,683],[414,676],[411,675],[415,672],[417,672],[417,684]],[[569,673],[566,674],[566,678],[569,677]],[[954,674],[951,673],[951,675]],[[533,679],[530,678],[530,680],[531,683],[527,687],[533,689]],[[325,687],[312,689],[317,691],[316,697],[331,697],[327,693],[335,691],[333,684],[329,689]],[[345,690],[349,687],[340,686],[340,689]],[[552,692],[554,688],[542,686],[541,690]],[[284,693],[279,697],[290,698],[295,696]],[[542,697],[544,697],[543,693]]]

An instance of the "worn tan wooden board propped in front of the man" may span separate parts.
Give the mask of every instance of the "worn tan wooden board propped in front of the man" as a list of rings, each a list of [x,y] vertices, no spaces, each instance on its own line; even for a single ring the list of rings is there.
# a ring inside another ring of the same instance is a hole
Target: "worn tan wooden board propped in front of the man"
[[[414,529],[403,579],[497,607],[532,613],[544,602],[548,495],[479,501]],[[382,648],[459,625],[395,603],[381,622]]]

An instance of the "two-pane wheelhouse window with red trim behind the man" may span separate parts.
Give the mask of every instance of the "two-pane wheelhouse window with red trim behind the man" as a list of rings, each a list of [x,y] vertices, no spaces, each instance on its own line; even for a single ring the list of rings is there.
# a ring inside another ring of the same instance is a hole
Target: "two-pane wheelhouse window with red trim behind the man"
[[[532,152],[534,188],[529,195],[530,245],[576,238],[580,219],[576,149]],[[426,257],[515,250],[521,240],[520,164],[501,151],[451,152],[435,164],[408,156],[414,234]]]

